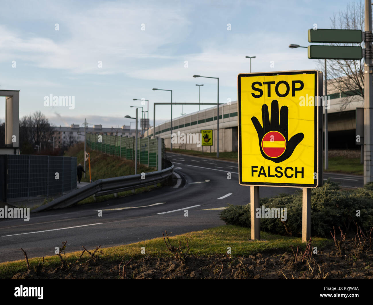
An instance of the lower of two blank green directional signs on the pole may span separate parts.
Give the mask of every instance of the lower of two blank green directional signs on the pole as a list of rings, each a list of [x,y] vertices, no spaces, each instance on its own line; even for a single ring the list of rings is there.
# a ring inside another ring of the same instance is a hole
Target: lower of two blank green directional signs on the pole
[[[361,47],[339,47],[335,45],[309,45],[308,58],[311,59],[361,59]]]

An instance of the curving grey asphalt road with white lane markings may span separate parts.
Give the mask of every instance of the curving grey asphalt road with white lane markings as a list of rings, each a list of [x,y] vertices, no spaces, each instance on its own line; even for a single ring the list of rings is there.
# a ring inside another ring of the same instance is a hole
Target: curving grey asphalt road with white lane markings
[[[110,247],[224,225],[220,209],[250,202],[250,188],[238,184],[238,164],[167,153],[181,178],[174,187],[150,193],[113,198],[101,203],[32,213],[30,220],[1,219],[0,262],[54,255],[55,247],[67,240],[66,251]],[[227,179],[227,173],[231,179]],[[359,187],[363,178],[327,173],[342,185]],[[260,197],[293,193],[297,188],[260,187]],[[188,217],[184,210],[188,210]],[[102,217],[98,217],[102,210]],[[140,251],[140,249],[139,249]]]

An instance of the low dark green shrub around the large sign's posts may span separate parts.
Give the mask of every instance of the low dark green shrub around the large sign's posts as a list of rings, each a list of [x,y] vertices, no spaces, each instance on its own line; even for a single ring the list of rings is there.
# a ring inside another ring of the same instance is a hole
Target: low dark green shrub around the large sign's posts
[[[286,221],[280,218],[261,218],[261,231],[297,236],[302,231],[302,193],[280,194],[273,198],[260,198],[260,206],[286,207]],[[360,210],[360,217],[357,216]],[[220,218],[229,225],[250,227],[250,204],[229,205],[220,213]],[[325,184],[311,190],[311,234],[327,236],[333,226],[344,232],[354,232],[356,224],[366,232],[373,226],[373,184],[352,191],[341,190],[329,179]]]

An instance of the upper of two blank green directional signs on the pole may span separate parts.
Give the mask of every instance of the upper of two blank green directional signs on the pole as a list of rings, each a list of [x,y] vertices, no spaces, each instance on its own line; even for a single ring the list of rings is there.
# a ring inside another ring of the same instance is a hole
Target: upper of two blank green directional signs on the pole
[[[360,43],[363,41],[361,30],[309,29],[308,42],[344,42]]]

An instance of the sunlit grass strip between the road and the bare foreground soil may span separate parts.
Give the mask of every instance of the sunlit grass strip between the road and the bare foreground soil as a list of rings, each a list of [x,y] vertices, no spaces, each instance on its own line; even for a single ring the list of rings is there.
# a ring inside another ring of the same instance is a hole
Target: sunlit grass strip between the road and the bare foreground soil
[[[180,235],[172,236],[172,232],[168,232],[170,242],[173,245],[178,245],[181,241],[185,245],[188,239],[191,255],[211,256],[217,254],[224,254],[228,247],[231,247],[233,256],[252,255],[258,252],[290,252],[290,245],[304,250],[305,243],[301,242],[301,238],[273,235],[266,232],[261,232],[262,241],[250,241],[250,229],[242,228],[233,225],[223,225],[215,228],[205,229],[202,231],[188,232]],[[162,232],[159,232],[162,235]],[[315,237],[314,247],[322,250],[323,246],[330,241],[326,238]],[[145,254],[141,254],[141,247],[145,247]],[[69,249],[69,241],[66,250]],[[24,249],[27,252],[27,249]],[[53,249],[54,250],[54,249]],[[102,248],[102,254],[98,254],[102,260],[106,262],[120,262],[124,257],[129,260],[134,257],[134,260],[144,257],[171,257],[172,255],[167,250],[163,238],[148,239],[134,244],[120,245],[116,247]],[[19,250],[21,251],[21,250]],[[82,251],[66,253],[66,258],[69,263],[75,263]],[[85,261],[89,258],[87,253],[81,258]],[[30,269],[34,269],[38,263],[43,259],[40,257],[29,258]],[[45,257],[44,267],[46,269],[54,269],[60,266],[60,258],[57,255]],[[26,261],[18,260],[12,262],[0,263],[0,279],[9,279],[18,272],[27,271]]]

